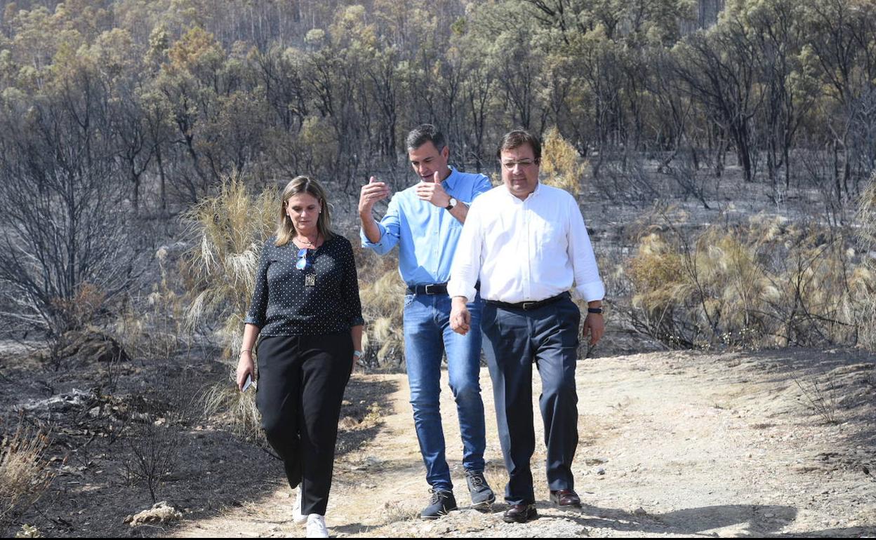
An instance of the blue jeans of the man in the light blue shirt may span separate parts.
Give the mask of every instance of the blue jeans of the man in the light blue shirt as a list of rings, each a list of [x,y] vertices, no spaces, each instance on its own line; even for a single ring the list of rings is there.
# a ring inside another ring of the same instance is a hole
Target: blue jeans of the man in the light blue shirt
[[[436,491],[453,489],[444,456],[439,397],[441,362],[445,352],[450,391],[456,400],[459,431],[463,438],[463,467],[466,471],[484,470],[484,402],[478,380],[484,302],[477,296],[468,307],[471,330],[462,336],[450,329],[449,296],[405,296],[405,356],[413,425],[426,464],[426,480]]]

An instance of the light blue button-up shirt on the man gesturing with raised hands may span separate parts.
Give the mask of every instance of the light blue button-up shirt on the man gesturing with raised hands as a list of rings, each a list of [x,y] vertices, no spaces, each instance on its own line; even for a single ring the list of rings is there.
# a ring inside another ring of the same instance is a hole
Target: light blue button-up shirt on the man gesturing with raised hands
[[[483,174],[459,172],[450,167],[442,182],[444,191],[456,200],[471,204],[481,193],[490,191],[490,179]],[[362,246],[378,255],[389,253],[399,244],[399,273],[408,285],[446,283],[463,224],[445,208],[417,197],[417,186],[392,195],[386,214],[378,223],[380,241],[369,242],[360,230]]]

